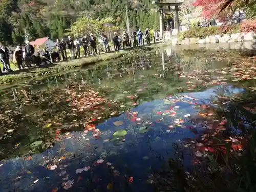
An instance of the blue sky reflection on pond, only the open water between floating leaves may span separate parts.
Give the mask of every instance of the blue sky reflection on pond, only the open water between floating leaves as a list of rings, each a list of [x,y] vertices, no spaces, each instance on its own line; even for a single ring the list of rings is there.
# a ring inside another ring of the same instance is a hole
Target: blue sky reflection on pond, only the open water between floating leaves
[[[95,188],[98,188],[99,191],[106,191],[106,185],[110,182],[124,183],[125,175],[134,177],[134,183],[126,186],[130,188],[129,190],[138,190],[139,188],[139,191],[151,191],[152,188],[146,185],[146,179],[150,173],[150,167],[153,170],[160,168],[159,156],[164,158],[173,156],[173,143],[197,136],[186,128],[193,124],[189,121],[190,118],[184,117],[184,115],[198,114],[198,110],[194,108],[194,103],[209,103],[212,96],[218,95],[216,91],[223,88],[227,93],[232,92],[232,94],[243,91],[243,89],[233,89],[232,86],[218,86],[204,92],[180,94],[177,98],[180,98],[181,101],[172,104],[166,104],[163,100],[145,102],[132,109],[131,114],[123,113],[98,124],[96,128],[102,132],[102,136],[98,140],[93,138],[91,132],[88,135],[83,132],[73,132],[69,139],[65,138],[60,143],[56,143],[50,150],[33,155],[32,160],[15,158],[2,162],[3,165],[0,167],[1,191],[8,192],[12,188],[26,191],[51,191],[49,188],[57,186],[59,187],[58,191],[67,191],[61,187],[61,183],[65,181],[62,180],[63,176],[59,176],[59,174],[63,170],[66,170],[70,175],[69,179],[75,180],[72,191],[92,191]],[[172,110],[175,106],[179,106],[175,109],[176,115],[173,117],[165,114],[166,110],[170,110],[170,106],[173,107]],[[131,121],[134,112],[138,112],[136,118],[140,118],[139,121]],[[164,115],[157,112],[162,112]],[[174,125],[174,129],[169,130],[168,125],[175,124],[175,119],[184,119],[184,123],[182,123],[184,126]],[[122,121],[123,124],[115,126],[115,121]],[[139,133],[138,129],[142,126],[151,128],[151,131],[144,134]],[[202,125],[196,128],[199,134],[203,130]],[[113,133],[118,130],[127,131],[125,142],[114,144],[105,141],[113,138]],[[63,146],[66,147],[66,150],[60,151],[60,147]],[[72,154],[67,155],[67,152]],[[67,158],[59,161],[61,156],[67,156]],[[76,174],[77,168],[93,167],[93,162],[97,159],[111,162],[115,169],[119,170],[120,175],[110,176],[105,162],[96,166],[93,174],[90,172]],[[185,160],[188,165],[191,156],[187,154]],[[49,170],[46,168],[49,163],[57,164],[58,167],[55,170]],[[77,182],[78,176],[83,179]],[[30,186],[37,179],[39,181]],[[88,189],[85,189],[85,186]]]

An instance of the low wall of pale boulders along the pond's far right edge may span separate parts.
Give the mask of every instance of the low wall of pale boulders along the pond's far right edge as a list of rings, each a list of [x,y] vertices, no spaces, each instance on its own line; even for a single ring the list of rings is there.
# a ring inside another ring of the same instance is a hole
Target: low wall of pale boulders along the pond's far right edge
[[[189,45],[189,44],[217,44],[226,42],[245,42],[250,41],[253,45],[256,42],[256,33],[233,33],[233,34],[223,34],[207,36],[204,39],[200,38],[185,38],[179,40],[178,38],[172,38],[173,45]],[[246,48],[246,47],[245,47]],[[247,46],[246,49],[254,49],[254,46]]]

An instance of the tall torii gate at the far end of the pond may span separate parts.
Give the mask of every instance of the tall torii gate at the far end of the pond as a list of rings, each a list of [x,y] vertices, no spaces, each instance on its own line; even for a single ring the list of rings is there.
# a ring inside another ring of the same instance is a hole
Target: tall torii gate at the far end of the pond
[[[183,3],[183,1],[174,2],[174,0],[157,0],[156,2],[152,2],[155,4],[159,11],[160,17],[160,36],[163,38],[163,12],[171,12],[175,11],[175,28],[180,31],[180,24],[179,24],[179,6]],[[167,9],[163,9],[163,7],[167,7]],[[175,8],[173,8],[175,7]]]

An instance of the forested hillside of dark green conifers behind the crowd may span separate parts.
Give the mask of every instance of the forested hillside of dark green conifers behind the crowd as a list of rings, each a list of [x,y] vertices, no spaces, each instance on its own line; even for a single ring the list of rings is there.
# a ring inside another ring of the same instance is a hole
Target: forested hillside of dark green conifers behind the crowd
[[[159,18],[149,0],[0,0],[0,40],[5,44],[23,42],[24,29],[31,40],[49,36],[61,38],[82,16],[115,18],[125,28],[125,5],[131,28],[158,28]]]

